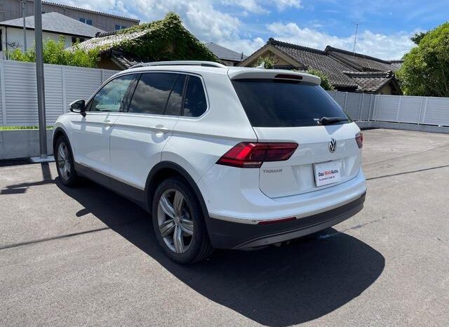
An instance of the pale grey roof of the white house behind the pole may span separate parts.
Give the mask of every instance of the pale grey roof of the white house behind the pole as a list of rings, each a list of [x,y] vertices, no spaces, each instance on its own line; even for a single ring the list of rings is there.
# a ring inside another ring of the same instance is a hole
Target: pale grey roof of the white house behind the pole
[[[0,26],[23,27],[23,18],[13,20],[4,20]],[[25,17],[25,27],[34,29],[34,15]],[[69,34],[75,36],[93,37],[97,33],[105,32],[102,29],[87,25],[73,18],[69,18],[60,13],[43,13],[42,30],[46,32],[55,32],[60,34]]]

